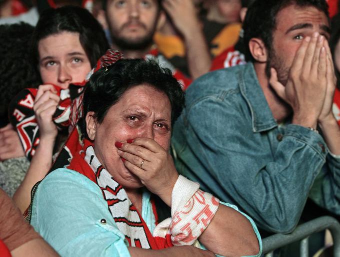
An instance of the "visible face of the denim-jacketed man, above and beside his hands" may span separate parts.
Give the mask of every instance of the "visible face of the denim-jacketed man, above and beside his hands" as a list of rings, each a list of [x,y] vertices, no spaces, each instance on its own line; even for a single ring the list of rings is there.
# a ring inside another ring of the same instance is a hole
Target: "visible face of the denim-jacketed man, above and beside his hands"
[[[289,69],[302,40],[305,37],[312,37],[315,32],[328,40],[328,31],[326,15],[315,7],[290,5],[283,8],[276,16],[276,29],[272,33],[267,75],[270,75],[270,67],[275,68],[278,80],[285,85]]]

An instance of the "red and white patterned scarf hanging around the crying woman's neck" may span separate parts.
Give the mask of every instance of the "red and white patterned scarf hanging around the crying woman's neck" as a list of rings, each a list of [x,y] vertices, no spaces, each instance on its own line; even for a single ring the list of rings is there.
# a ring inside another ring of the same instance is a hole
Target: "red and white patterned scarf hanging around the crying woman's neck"
[[[170,235],[167,235],[167,240],[165,237],[155,240],[140,213],[129,200],[124,188],[98,161],[91,143],[86,139],[83,142],[83,150],[73,156],[68,168],[83,174],[98,185],[115,224],[119,231],[125,235],[129,245],[144,249],[161,249],[172,246]],[[154,202],[151,204],[153,213],[157,216]]]

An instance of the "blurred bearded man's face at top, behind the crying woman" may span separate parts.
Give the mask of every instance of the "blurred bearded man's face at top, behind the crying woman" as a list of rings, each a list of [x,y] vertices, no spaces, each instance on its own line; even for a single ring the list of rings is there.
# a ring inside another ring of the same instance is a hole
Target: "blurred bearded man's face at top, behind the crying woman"
[[[150,46],[158,13],[156,0],[108,0],[106,20],[113,44],[121,50]]]

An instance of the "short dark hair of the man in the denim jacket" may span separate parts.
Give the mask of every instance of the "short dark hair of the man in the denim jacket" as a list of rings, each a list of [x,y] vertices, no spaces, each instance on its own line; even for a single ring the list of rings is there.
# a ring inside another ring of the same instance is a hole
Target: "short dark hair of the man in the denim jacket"
[[[245,58],[247,61],[255,61],[248,46],[252,38],[261,39],[268,52],[271,51],[272,33],[276,28],[276,16],[280,10],[289,5],[312,6],[329,17],[328,5],[325,0],[255,0],[248,8],[243,22]]]

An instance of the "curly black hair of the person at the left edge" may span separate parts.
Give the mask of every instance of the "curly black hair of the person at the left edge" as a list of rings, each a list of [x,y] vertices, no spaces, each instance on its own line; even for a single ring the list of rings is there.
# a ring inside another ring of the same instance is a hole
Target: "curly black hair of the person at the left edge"
[[[41,83],[27,51],[33,30],[34,27],[26,23],[0,25],[0,116],[4,116],[6,122],[12,98],[22,89]]]

